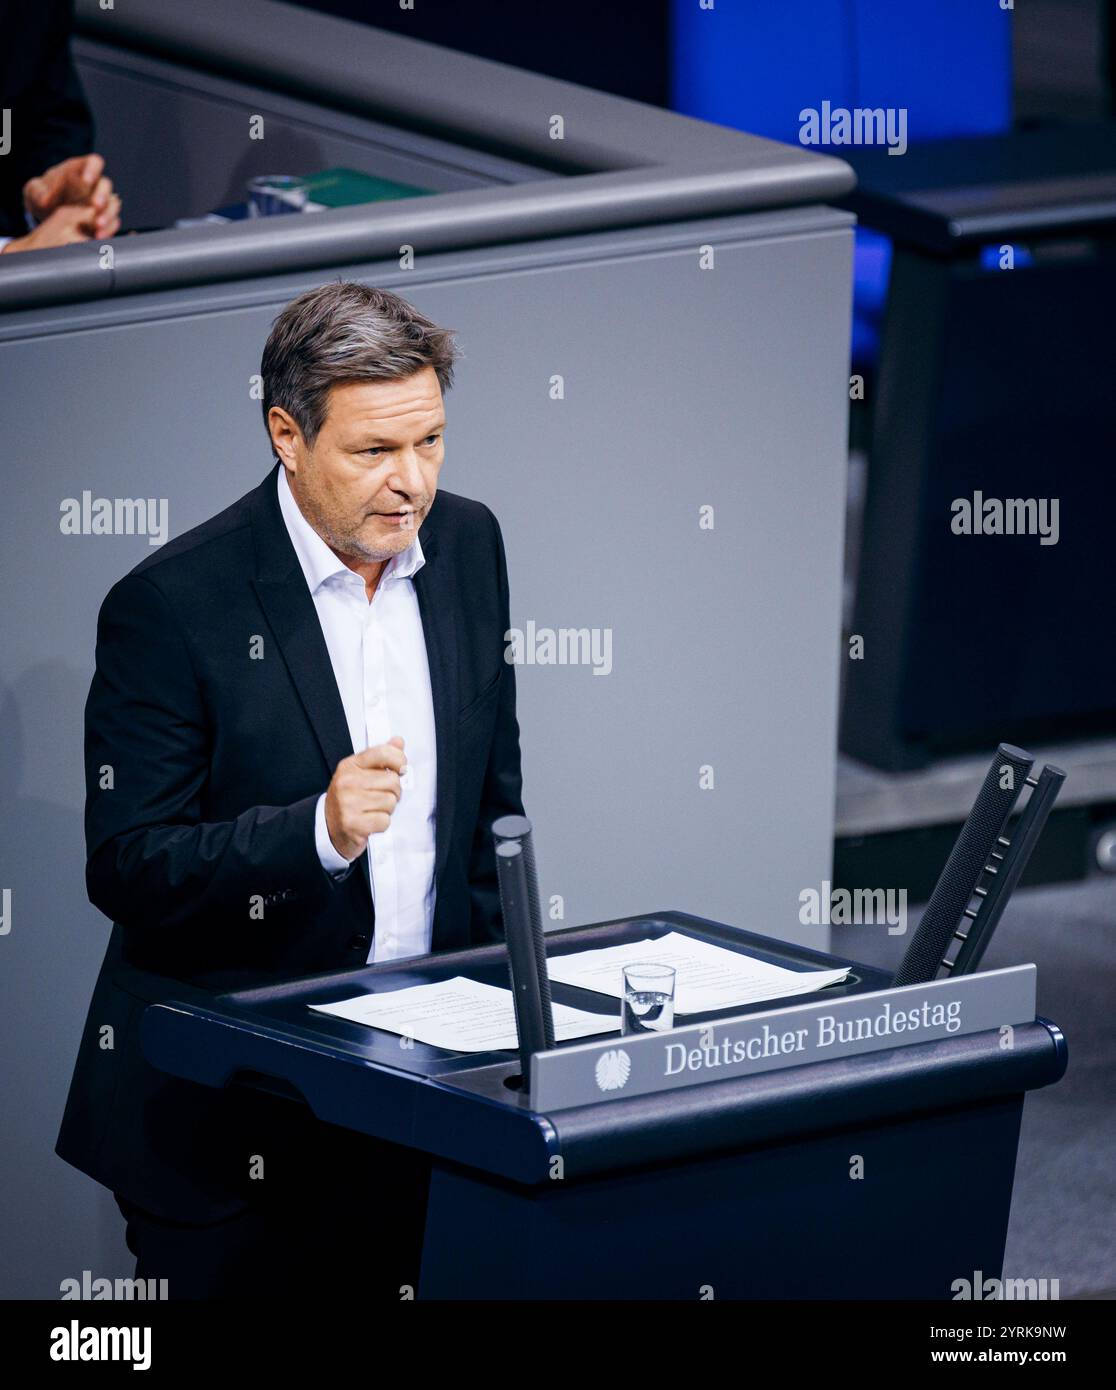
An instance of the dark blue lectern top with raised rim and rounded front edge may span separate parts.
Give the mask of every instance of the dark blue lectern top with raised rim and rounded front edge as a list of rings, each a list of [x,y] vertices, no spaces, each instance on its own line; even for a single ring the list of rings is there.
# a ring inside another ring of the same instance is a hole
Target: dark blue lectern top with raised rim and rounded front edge
[[[682,931],[791,970],[846,966],[848,960],[791,942],[739,931],[681,912],[659,912],[548,934],[548,956],[589,947],[612,947]],[[617,1097],[607,1104],[539,1113],[524,1094],[518,1055],[511,1051],[450,1052],[400,1038],[310,1008],[364,990],[397,990],[468,976],[507,987],[503,944],[439,952],[402,962],[292,980],[231,994],[186,986],[151,1004],[143,1017],[147,1059],[164,1072],[207,1086],[249,1084],[304,1099],[314,1113],[393,1143],[410,1144],[443,1159],[499,1177],[539,1183],[549,1161],[561,1154],[589,1168],[628,1161],[632,1154],[682,1156],[710,1143],[741,1136],[791,1133],[817,1125],[827,1106],[852,1120],[887,1109],[910,1112],[944,1095],[983,1095],[1047,1084],[1065,1069],[1063,1048],[1041,1023],[1020,1030],[1012,1056],[996,1055],[987,1040],[956,1037],[895,1048],[887,1074],[881,1054],[841,1063],[784,1068],[777,1073],[706,1081],[670,1094]],[[853,965],[839,984],[784,1001],[687,1015],[685,1024],[887,990],[891,977]],[[602,1016],[617,1016],[618,1001],[555,983],[556,1002]],[[559,1044],[574,1047],[586,1040]],[[933,1063],[933,1065],[930,1065]],[[839,1068],[839,1073],[834,1073]],[[1040,1079],[1041,1074],[1041,1079]],[[839,1086],[834,1086],[839,1076]],[[819,1087],[809,1104],[788,1105]]]

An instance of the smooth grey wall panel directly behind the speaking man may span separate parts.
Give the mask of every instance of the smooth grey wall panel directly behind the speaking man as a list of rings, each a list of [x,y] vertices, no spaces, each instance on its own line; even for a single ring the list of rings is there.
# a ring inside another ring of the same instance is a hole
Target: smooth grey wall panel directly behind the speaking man
[[[442,482],[498,513],[513,623],[613,630],[607,677],[518,670],[541,888],[566,901],[553,924],[684,908],[826,944],[799,927],[798,894],[827,876],[832,837],[851,232],[781,217],[361,268],[460,331]],[[126,1272],[111,1200],[46,1155],[108,930],[82,881],[96,613],[150,548],[61,535],[60,500],[167,498],[177,535],[253,486],[270,453],[249,378],[274,313],[324,278],[286,277],[274,299],[254,282],[25,313],[0,341],[21,594],[0,639],[0,1009],[21,1159],[0,1197],[0,1294]],[[56,1212],[46,1241],[21,1223],[32,1209]]]

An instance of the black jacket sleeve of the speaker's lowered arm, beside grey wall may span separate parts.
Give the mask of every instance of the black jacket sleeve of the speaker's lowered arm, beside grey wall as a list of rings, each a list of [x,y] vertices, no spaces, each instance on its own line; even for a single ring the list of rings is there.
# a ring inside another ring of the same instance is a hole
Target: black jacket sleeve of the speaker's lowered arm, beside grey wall
[[[500,587],[500,646],[504,632],[511,626],[510,595],[507,584],[507,559],[503,537],[496,517],[489,512],[496,566]],[[473,838],[468,890],[471,922],[470,931],[477,944],[503,940],[503,917],[500,916],[500,891],[496,880],[496,851],[492,842],[492,821],[500,816],[523,816],[523,770],[520,763],[520,726],[516,719],[516,667],[500,662],[500,689],[496,709],[496,730],[492,737],[492,751],[485,770],[481,809],[477,815],[477,833]]]

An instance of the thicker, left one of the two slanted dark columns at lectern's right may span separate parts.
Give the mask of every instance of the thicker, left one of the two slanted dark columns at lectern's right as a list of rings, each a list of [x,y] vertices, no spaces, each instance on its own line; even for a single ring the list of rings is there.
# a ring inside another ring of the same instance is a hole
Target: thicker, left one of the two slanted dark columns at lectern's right
[[[958,922],[969,906],[985,865],[990,863],[996,840],[1003,833],[1033,763],[1031,755],[1021,748],[1001,744],[996,749],[969,819],[962,826],[945,869],[934,885],[919,929],[895,972],[892,981],[895,986],[926,984],[937,977],[942,958],[958,930]],[[1006,769],[1010,769],[1010,777],[1006,777]],[[1005,781],[1010,785],[1005,787]]]

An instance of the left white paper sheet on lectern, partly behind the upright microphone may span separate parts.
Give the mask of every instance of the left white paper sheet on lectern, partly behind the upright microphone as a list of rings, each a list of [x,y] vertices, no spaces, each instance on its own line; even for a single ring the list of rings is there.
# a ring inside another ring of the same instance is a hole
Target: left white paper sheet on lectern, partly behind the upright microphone
[[[438,984],[359,994],[353,999],[311,1004],[310,1008],[452,1052],[496,1052],[518,1047],[511,991],[461,974]],[[555,1004],[553,1016],[555,1040],[559,1042],[620,1031],[618,1009],[616,1017],[607,1017]]]

